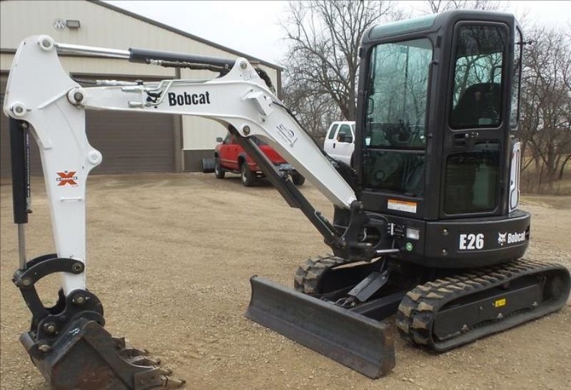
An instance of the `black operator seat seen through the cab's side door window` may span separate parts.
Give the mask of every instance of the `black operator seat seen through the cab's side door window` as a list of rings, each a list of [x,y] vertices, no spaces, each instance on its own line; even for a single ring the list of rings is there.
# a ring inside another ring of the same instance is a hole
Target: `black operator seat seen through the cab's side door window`
[[[469,86],[450,115],[453,128],[500,124],[502,91],[499,83]]]

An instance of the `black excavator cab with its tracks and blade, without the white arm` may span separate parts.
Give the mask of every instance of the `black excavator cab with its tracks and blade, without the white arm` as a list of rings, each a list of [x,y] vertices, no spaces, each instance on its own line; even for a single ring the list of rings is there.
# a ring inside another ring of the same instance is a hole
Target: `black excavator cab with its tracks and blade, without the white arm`
[[[358,243],[302,264],[296,292],[253,278],[248,316],[376,378],[394,365],[393,314],[411,344],[447,351],[565,304],[567,269],[520,259],[530,238],[514,133],[522,44],[512,15],[482,11],[366,31],[353,154],[360,207],[333,216]]]

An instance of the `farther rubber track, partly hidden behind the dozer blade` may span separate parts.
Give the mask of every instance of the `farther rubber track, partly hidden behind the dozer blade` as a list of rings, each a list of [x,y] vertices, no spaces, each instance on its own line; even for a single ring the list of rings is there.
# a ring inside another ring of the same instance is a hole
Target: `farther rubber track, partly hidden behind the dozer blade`
[[[351,262],[352,261],[348,259],[333,256],[332,254],[307,259],[305,263],[301,264],[298,271],[295,272],[293,279],[295,291],[300,291],[305,294],[316,294],[318,292],[319,281],[326,271]]]

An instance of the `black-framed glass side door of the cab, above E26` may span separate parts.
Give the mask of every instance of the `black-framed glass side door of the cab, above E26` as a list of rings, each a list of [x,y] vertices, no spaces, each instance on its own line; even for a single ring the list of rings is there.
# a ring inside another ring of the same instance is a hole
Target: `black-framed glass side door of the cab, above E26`
[[[502,214],[509,95],[507,24],[456,24],[445,124],[441,218]]]

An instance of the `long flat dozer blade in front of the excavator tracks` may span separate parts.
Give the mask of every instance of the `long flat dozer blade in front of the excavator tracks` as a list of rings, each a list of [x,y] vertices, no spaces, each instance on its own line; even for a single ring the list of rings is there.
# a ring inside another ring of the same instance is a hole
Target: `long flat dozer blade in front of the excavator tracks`
[[[395,366],[390,325],[258,276],[250,281],[248,319],[373,379]]]

